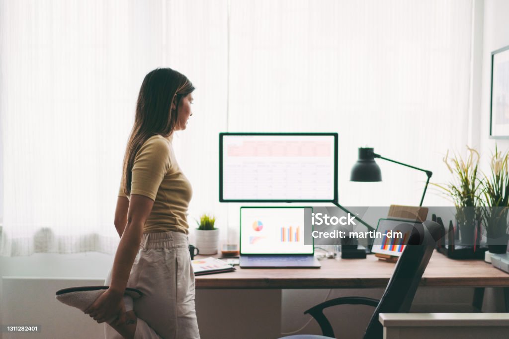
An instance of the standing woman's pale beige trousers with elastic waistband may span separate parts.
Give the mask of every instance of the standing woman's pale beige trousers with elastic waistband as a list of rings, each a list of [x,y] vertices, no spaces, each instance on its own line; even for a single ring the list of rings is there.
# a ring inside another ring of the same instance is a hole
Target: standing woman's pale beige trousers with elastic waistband
[[[105,285],[111,282],[111,271]],[[189,240],[180,232],[144,233],[127,287],[142,297],[134,300],[138,317],[135,339],[199,339],[194,309],[194,272]],[[105,324],[106,339],[122,338]]]

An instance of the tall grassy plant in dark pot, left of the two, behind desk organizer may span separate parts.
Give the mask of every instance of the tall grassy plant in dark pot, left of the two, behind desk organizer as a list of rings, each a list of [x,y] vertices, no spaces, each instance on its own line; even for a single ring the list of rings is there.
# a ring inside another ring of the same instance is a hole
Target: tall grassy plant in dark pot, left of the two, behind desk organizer
[[[477,167],[479,165],[479,153],[467,146],[468,157],[465,160],[461,156],[448,159],[447,151],[443,159],[453,179],[445,186],[436,184],[452,199],[456,206],[456,221],[460,230],[461,242],[466,245],[474,244],[475,226],[480,223],[480,197]]]

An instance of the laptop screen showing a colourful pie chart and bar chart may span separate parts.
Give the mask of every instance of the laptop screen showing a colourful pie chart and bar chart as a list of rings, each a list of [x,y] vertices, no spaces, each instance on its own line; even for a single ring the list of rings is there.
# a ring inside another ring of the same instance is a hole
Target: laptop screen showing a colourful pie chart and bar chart
[[[306,209],[311,207],[241,207],[241,254],[313,254],[304,244]]]

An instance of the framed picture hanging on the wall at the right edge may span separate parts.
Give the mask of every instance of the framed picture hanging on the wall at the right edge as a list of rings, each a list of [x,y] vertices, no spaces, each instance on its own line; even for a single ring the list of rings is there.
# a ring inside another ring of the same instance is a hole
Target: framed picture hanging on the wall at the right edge
[[[491,52],[490,138],[509,139],[509,46]]]

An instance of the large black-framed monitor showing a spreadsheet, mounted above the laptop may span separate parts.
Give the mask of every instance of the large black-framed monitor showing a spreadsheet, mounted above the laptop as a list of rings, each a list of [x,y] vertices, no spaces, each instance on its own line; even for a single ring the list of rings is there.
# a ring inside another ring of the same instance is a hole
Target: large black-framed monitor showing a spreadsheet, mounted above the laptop
[[[219,133],[219,201],[337,201],[337,133]]]

